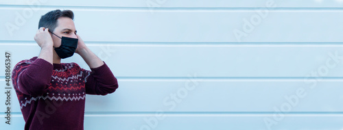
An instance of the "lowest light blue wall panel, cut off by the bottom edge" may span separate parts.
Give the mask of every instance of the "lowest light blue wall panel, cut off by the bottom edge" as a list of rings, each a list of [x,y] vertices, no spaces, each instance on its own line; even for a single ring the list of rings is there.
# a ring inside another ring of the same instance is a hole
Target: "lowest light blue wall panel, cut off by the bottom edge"
[[[19,116],[19,115],[18,115]],[[165,114],[164,118],[158,120],[154,114],[150,115],[135,115],[135,116],[91,116],[84,117],[84,129],[342,129],[342,114],[327,114],[321,115],[290,115],[284,116],[277,125],[265,124],[264,120],[273,120],[272,115],[228,115],[228,116],[178,116]],[[12,118],[13,123],[16,125],[5,125],[3,129],[23,129],[25,122],[23,117]],[[147,121],[145,121],[147,120]],[[156,120],[156,122],[154,122]],[[330,120],[330,121],[327,121]]]

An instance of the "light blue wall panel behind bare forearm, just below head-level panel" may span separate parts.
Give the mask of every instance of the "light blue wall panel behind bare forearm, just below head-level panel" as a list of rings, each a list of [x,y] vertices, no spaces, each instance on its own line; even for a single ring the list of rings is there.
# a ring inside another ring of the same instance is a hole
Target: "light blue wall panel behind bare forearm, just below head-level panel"
[[[14,49],[25,46],[23,49]],[[13,67],[38,56],[36,43],[3,42]],[[340,44],[125,44],[90,43],[117,77],[343,77]],[[26,55],[21,55],[25,52]],[[1,57],[4,58],[4,57]],[[62,60],[88,68],[80,55]],[[0,64],[1,68],[5,64]],[[126,68],[126,69],[123,69]],[[5,76],[4,69],[0,76]],[[312,71],[317,74],[312,74]]]

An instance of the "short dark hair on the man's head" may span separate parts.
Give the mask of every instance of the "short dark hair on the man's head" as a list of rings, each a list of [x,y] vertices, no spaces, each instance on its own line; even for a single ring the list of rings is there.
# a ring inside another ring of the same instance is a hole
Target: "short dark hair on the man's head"
[[[40,27],[49,28],[49,31],[53,32],[54,29],[57,27],[57,19],[60,17],[67,17],[74,19],[74,14],[71,10],[53,10],[50,12],[47,12],[47,14],[44,14],[40,17],[38,29]]]

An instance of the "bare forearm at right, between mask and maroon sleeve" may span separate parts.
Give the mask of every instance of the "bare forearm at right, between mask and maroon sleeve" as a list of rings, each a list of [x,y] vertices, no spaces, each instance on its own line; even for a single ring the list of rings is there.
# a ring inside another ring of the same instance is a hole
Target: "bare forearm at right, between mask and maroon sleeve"
[[[89,68],[97,68],[99,66],[104,65],[104,62],[97,57],[88,47],[84,49],[80,49],[78,52],[79,55],[84,59],[84,61],[88,64]]]

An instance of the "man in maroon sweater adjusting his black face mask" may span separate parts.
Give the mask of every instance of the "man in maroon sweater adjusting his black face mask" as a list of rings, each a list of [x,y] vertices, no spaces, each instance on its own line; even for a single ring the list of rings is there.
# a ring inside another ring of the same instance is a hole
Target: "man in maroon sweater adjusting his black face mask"
[[[115,92],[117,79],[76,34],[71,10],[48,12],[38,28],[38,57],[19,62],[12,74],[25,129],[83,129],[85,94]],[[61,63],[74,52],[92,71]]]

